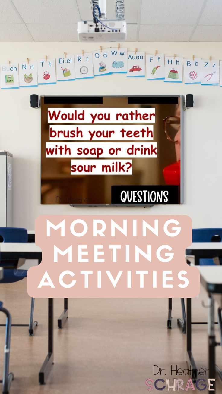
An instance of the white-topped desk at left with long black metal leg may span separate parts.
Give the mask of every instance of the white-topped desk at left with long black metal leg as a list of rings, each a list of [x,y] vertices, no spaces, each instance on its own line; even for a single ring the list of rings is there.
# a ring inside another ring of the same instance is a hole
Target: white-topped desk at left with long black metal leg
[[[0,243],[2,259],[34,259],[41,262],[42,251],[35,243]],[[17,263],[16,263],[17,264]],[[15,266],[17,268],[17,266]],[[39,371],[39,383],[45,384],[53,364],[53,298],[48,299],[48,354]]]

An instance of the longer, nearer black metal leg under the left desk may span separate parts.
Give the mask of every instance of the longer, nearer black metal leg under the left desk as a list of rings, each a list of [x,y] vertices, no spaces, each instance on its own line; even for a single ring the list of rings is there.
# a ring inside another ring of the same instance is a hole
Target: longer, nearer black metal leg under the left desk
[[[53,362],[53,298],[48,299],[48,354],[39,371],[39,384],[45,385]]]

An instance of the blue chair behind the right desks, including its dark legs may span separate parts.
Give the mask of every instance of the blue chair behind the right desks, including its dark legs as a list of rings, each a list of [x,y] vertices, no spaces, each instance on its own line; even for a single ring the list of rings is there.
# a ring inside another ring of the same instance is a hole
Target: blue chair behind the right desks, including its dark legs
[[[221,242],[222,241],[222,229],[193,229],[192,230],[192,242]],[[211,258],[200,258],[200,266],[211,266],[214,265],[214,261]],[[222,261],[220,260],[222,265]],[[184,298],[181,298],[182,307],[182,320],[177,319],[177,323],[180,325],[183,334],[186,333],[186,310]],[[172,298],[168,299],[168,320],[167,328],[171,329],[172,320]]]

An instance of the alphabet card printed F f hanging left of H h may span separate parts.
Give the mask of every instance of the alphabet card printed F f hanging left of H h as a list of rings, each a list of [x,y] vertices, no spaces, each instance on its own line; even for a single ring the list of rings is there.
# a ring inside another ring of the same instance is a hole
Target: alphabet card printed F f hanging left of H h
[[[147,80],[165,79],[164,55],[146,55],[146,76]]]

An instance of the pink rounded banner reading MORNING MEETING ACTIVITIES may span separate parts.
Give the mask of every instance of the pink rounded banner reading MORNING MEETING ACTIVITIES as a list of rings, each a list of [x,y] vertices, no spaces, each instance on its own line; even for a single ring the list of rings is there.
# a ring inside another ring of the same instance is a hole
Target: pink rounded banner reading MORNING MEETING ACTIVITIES
[[[31,297],[196,297],[185,215],[47,215],[35,220],[42,262],[28,269]]]

